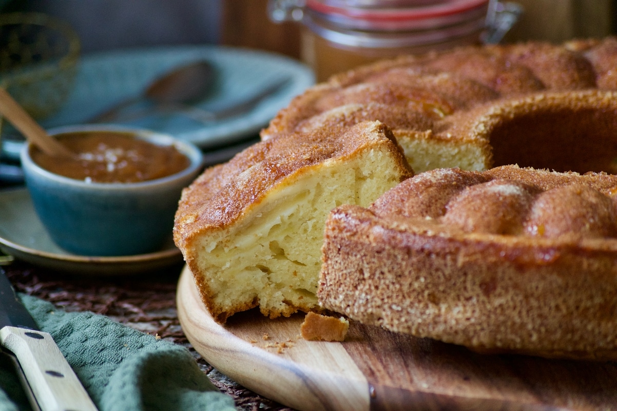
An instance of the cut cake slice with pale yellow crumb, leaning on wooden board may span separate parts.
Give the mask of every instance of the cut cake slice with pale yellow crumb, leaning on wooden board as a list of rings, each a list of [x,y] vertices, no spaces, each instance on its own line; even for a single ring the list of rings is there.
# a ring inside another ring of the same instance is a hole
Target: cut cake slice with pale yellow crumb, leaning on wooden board
[[[308,312],[329,211],[368,206],[412,174],[380,122],[263,141],[184,190],[174,239],[218,322],[258,305],[271,318]]]

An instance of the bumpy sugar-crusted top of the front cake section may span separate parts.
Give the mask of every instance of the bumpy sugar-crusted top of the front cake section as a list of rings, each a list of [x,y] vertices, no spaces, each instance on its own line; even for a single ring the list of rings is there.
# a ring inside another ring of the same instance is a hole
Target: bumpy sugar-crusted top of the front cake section
[[[463,233],[536,238],[617,238],[617,176],[508,165],[486,172],[438,169],[404,181],[371,210]]]

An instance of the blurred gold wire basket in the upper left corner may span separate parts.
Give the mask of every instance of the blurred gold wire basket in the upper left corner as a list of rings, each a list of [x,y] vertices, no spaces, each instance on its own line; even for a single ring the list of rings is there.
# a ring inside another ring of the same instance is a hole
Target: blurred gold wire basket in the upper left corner
[[[70,92],[80,47],[73,28],[49,15],[0,14],[0,87],[33,117],[49,117]]]

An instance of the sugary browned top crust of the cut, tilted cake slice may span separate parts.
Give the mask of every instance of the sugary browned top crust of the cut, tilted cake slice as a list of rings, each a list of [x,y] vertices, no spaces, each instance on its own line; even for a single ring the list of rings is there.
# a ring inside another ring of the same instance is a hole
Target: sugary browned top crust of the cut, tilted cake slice
[[[400,170],[405,176],[413,174],[392,132],[380,122],[319,127],[254,144],[229,162],[205,170],[184,189],[175,218],[176,245],[183,246],[204,230],[230,225],[293,173],[328,160],[344,159],[376,144],[387,144],[392,151],[399,151]]]

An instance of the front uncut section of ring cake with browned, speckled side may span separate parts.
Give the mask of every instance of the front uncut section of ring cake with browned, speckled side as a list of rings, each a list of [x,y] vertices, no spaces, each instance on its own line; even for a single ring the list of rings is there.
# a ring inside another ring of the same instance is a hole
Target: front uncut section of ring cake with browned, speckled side
[[[420,173],[328,217],[321,307],[480,352],[617,359],[617,176]]]

